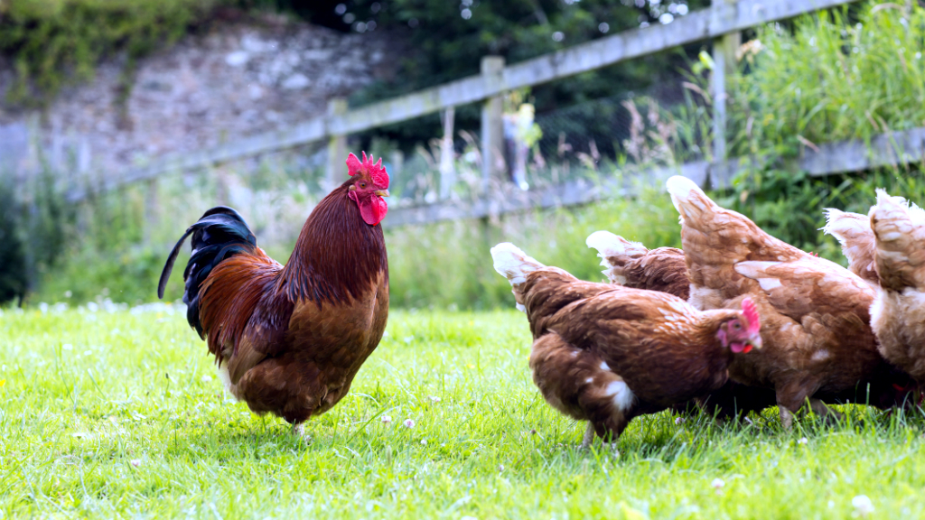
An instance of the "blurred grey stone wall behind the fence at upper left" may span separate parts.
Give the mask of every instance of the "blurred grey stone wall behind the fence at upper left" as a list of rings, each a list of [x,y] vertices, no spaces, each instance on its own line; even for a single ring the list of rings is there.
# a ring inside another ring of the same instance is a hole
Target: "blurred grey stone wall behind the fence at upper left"
[[[143,59],[124,102],[123,68],[112,60],[42,114],[0,106],[0,167],[35,167],[26,143],[38,142],[56,168],[106,175],[291,125],[323,114],[332,97],[391,78],[401,49],[381,31],[343,34],[277,17],[215,22]],[[11,78],[0,62],[0,91]]]

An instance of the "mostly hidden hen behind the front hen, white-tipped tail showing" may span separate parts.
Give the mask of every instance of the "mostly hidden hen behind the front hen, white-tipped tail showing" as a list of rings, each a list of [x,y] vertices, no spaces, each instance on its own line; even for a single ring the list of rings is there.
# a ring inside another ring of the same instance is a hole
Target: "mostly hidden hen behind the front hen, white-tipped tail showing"
[[[649,250],[641,243],[627,241],[610,231],[595,231],[586,240],[587,246],[598,250],[600,265],[611,283],[673,294],[682,300],[690,295],[685,253],[674,247]],[[719,390],[697,396],[693,402],[672,407],[689,414],[700,408],[718,419],[742,417],[760,412],[776,403],[774,391],[748,387],[730,379]]]

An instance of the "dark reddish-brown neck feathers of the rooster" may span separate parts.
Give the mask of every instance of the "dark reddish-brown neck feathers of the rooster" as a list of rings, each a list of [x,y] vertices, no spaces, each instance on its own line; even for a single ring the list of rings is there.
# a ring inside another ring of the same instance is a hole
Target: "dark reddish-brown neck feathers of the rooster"
[[[348,196],[351,180],[327,194],[305,220],[277,288],[292,302],[348,303],[368,291],[385,271],[386,241],[382,226],[370,226]]]

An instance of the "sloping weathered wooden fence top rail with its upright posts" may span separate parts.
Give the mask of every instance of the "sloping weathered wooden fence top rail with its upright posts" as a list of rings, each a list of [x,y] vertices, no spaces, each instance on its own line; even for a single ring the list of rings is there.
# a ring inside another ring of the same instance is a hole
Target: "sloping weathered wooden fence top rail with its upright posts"
[[[68,192],[67,198],[70,202],[78,203],[86,199],[91,192],[110,191],[120,186],[154,180],[169,173],[212,167],[228,161],[277,152],[311,142],[328,140],[329,151],[337,156],[344,155],[338,151],[343,152],[345,139],[351,133],[419,118],[441,110],[452,111],[455,106],[476,102],[485,103],[482,111],[483,190],[485,190],[499,174],[498,168],[493,166],[492,158],[497,153],[496,148],[499,147],[499,139],[501,139],[499,106],[500,96],[504,93],[607,67],[640,56],[652,55],[679,45],[710,39],[720,39],[718,43],[714,43],[714,58],[718,62],[719,70],[714,72],[712,88],[715,127],[713,156],[720,162],[713,166],[696,163],[685,165],[680,169],[702,180],[707,179],[708,170],[714,177],[728,180],[728,174],[734,170],[734,167],[730,166],[732,164],[730,161],[722,162],[725,158],[723,78],[728,68],[724,64],[734,63],[731,55],[738,38],[737,31],[855,1],[857,0],[713,0],[713,4],[708,9],[691,12],[667,25],[653,25],[623,31],[507,67],[504,66],[502,58],[486,56],[482,63],[482,73],[477,76],[451,81],[417,93],[358,108],[350,109],[344,101],[336,100],[332,102],[327,114],[323,116],[291,127],[228,142],[198,153],[166,155],[144,167],[131,168],[118,178],[105,180],[100,185],[92,187],[90,192],[86,189],[75,189]],[[327,179],[330,184],[342,175],[343,165],[340,161],[333,160],[328,163]],[[520,198],[524,201],[539,201],[536,204],[540,207],[546,204],[543,201],[587,202],[584,198],[586,195],[578,194],[583,192],[585,187],[580,182],[575,186],[574,188],[557,188],[561,190],[558,196],[529,193],[525,198],[523,196]],[[573,194],[566,195],[565,193]],[[549,202],[549,204],[553,203]],[[402,223],[421,223],[427,219],[440,220],[445,217],[449,218],[449,216],[476,217],[490,214],[493,211],[491,207],[491,204],[484,202],[470,204],[467,209],[451,205],[442,208],[437,205],[402,208],[397,211],[398,215],[407,217],[390,216],[389,220],[391,225],[401,225]]]

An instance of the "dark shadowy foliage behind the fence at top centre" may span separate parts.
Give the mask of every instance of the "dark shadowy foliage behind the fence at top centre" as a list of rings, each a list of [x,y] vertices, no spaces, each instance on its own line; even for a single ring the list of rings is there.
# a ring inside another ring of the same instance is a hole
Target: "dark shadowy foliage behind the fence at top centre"
[[[374,14],[370,9],[373,4],[384,7]],[[658,17],[668,12],[669,5],[684,4],[694,10],[709,6],[709,1],[642,2],[641,7],[638,4],[625,0],[349,2],[347,5],[357,20],[373,19],[378,27],[404,35],[409,43],[408,56],[401,61],[395,79],[354,93],[351,105],[364,105],[478,74],[482,56],[504,56],[508,63],[515,63],[632,29],[640,22],[658,23]],[[470,18],[462,16],[464,11],[468,11]],[[607,24],[606,33],[601,31],[601,23]],[[675,69],[685,59],[684,51],[668,52],[557,80],[535,87],[531,103],[542,113],[615,92],[646,89],[660,80],[673,78]],[[456,127],[477,130],[478,118],[477,106],[460,107],[456,112]],[[611,131],[611,120],[605,116],[588,118],[586,125],[597,125],[599,133]],[[378,129],[376,135],[397,140],[408,150],[414,142],[425,142],[438,135],[439,128],[438,118],[430,117]],[[371,135],[364,135],[364,140]],[[610,147],[610,143],[605,146]]]

